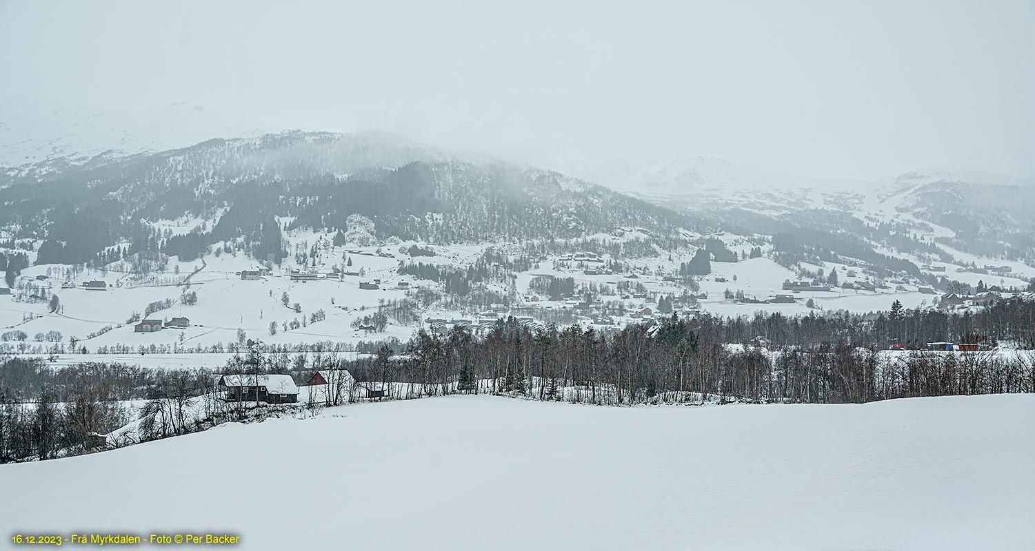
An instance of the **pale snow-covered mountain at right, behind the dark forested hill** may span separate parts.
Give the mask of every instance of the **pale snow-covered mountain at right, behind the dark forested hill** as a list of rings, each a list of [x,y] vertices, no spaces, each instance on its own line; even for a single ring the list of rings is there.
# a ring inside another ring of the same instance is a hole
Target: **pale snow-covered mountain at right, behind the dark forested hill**
[[[866,224],[976,245],[1030,247],[1035,182],[973,170],[923,170],[877,180],[814,180],[711,156],[663,162],[604,157],[556,162],[564,172],[677,210],[744,211],[769,217],[829,211]],[[720,216],[721,217],[721,216]],[[836,229],[832,227],[831,229]]]

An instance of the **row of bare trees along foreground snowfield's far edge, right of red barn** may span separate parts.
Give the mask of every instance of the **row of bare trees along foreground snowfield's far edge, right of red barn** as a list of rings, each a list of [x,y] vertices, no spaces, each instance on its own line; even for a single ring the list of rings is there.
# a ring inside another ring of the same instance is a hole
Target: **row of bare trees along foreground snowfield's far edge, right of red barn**
[[[484,336],[420,332],[407,355],[383,350],[347,367],[391,398],[466,391],[611,405],[839,403],[1035,392],[1032,351],[890,353],[847,342],[771,350],[730,346],[718,335],[716,326],[676,316],[610,335],[578,326],[533,334],[509,322]]]

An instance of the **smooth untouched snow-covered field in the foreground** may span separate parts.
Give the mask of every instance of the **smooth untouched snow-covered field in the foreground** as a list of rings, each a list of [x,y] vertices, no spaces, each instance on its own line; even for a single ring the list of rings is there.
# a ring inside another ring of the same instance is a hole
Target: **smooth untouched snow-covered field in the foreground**
[[[0,466],[0,519],[243,549],[1030,549],[1033,416],[1031,395],[358,404]]]

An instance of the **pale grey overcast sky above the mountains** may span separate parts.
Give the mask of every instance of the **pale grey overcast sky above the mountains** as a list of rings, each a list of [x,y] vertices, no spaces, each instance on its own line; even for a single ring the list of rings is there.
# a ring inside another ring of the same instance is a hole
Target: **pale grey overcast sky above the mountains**
[[[0,0],[0,71],[55,105],[496,154],[1035,176],[1032,0]]]

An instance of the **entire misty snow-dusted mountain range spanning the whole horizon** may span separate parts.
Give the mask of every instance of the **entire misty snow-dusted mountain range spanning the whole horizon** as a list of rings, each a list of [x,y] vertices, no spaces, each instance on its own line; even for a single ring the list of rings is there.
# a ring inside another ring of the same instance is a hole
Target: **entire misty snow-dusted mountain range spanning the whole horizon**
[[[19,133],[12,124],[32,126],[25,113],[6,123],[9,135]],[[926,263],[952,262],[954,251],[1017,262],[1035,257],[1035,186],[999,175],[921,171],[868,182],[818,181],[707,156],[522,164],[380,132],[296,130],[151,151],[190,135],[230,131],[220,125],[243,128],[184,105],[164,113],[179,114],[173,118],[180,125],[149,125],[141,118],[134,126],[100,116],[64,120],[59,111],[52,118],[73,131],[40,126],[36,135],[57,137],[35,140],[22,131],[9,140],[0,158],[32,152],[32,159],[45,160],[0,172],[0,188],[29,184],[3,191],[9,198],[0,210],[5,227],[32,235],[34,247],[51,262],[80,262],[131,239],[136,226],[112,226],[111,216],[205,218],[220,209],[229,209],[241,227],[260,227],[273,216],[296,225],[344,227],[349,214],[362,213],[376,218],[384,235],[415,241],[579,238],[621,226],[663,235],[794,235],[789,246],[797,259],[851,257],[913,273]],[[193,118],[206,122],[193,124]],[[127,130],[135,128],[143,130]],[[409,163],[419,166],[396,172]],[[250,189],[263,192],[244,201]],[[389,196],[401,190],[404,195]],[[111,216],[98,218],[98,208]],[[27,218],[30,211],[43,214]],[[165,246],[197,252],[204,245]]]

